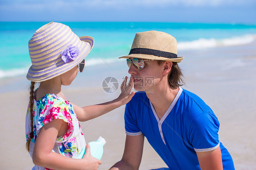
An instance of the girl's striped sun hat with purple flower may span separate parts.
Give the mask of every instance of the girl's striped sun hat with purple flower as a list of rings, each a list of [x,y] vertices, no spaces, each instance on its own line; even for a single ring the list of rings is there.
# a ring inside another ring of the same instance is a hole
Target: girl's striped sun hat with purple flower
[[[41,82],[71,70],[88,55],[93,44],[92,37],[78,37],[67,25],[43,25],[28,43],[32,66],[27,79]]]

